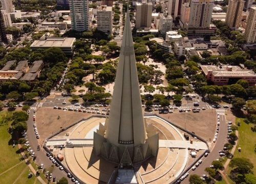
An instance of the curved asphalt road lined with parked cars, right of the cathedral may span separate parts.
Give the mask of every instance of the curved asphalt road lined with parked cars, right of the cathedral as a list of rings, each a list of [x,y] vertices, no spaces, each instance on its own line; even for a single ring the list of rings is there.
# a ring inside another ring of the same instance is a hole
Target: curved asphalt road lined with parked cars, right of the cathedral
[[[213,138],[212,138],[213,139]],[[205,168],[209,167],[212,163],[212,161],[219,158],[219,150],[223,150],[224,144],[227,142],[227,124],[226,124],[226,118],[224,114],[220,113],[220,129],[218,134],[218,139],[214,145],[214,148],[210,151],[209,155],[207,157],[203,157],[203,163],[200,164],[200,166],[195,170],[190,170],[189,174],[197,174],[199,176],[202,176],[203,174],[206,174],[204,171]],[[182,181],[182,183],[189,183],[188,181],[189,176]]]

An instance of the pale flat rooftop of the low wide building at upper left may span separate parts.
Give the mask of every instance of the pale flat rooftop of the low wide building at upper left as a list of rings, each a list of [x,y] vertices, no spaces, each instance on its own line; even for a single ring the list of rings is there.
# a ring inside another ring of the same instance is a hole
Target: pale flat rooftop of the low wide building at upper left
[[[76,38],[47,38],[46,40],[35,40],[30,48],[68,48],[73,47]]]

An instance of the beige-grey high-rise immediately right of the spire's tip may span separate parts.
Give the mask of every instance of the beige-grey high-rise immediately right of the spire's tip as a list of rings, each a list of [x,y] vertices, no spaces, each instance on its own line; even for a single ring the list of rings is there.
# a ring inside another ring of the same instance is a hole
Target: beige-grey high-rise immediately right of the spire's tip
[[[136,3],[136,24],[135,27],[151,28],[152,22],[152,3]]]

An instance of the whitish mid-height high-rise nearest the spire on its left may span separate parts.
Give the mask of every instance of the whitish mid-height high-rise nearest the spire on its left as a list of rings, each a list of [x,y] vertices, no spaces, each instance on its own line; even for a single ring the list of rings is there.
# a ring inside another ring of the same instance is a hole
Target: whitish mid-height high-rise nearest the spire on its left
[[[97,29],[112,34],[112,7],[103,6],[97,11]]]

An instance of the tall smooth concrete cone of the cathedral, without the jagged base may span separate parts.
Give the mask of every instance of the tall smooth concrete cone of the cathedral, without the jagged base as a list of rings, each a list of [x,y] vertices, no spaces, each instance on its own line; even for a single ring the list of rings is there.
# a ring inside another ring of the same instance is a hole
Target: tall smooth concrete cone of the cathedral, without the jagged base
[[[122,144],[136,146],[144,144],[145,136],[132,30],[127,8],[106,139],[116,146]]]

